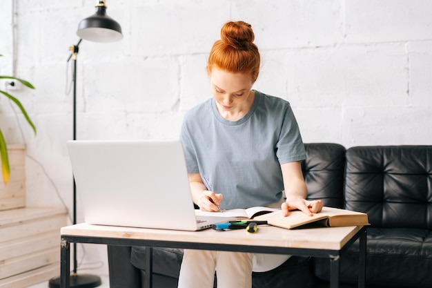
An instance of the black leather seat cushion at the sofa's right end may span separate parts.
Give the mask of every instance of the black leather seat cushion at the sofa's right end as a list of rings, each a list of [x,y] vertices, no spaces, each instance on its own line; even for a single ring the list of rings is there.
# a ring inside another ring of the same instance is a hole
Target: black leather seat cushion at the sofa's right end
[[[426,229],[367,228],[366,284],[432,287],[432,234]],[[342,282],[358,278],[358,240],[341,257]],[[328,280],[328,260],[315,258],[315,275]]]

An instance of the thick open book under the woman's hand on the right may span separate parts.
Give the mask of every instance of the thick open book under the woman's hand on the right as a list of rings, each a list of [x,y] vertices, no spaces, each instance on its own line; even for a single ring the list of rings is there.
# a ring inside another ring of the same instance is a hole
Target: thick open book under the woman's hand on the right
[[[296,227],[342,227],[369,225],[368,215],[366,213],[323,207],[320,213],[308,216],[302,211],[290,211],[287,217],[282,215],[282,211],[260,215],[255,218],[259,221],[267,221],[268,224],[293,229]],[[307,226],[306,226],[307,225]]]

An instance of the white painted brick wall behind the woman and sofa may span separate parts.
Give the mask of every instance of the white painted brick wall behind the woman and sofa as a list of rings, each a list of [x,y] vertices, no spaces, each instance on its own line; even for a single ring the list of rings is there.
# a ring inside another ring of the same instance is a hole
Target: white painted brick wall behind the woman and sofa
[[[92,15],[94,4],[0,3],[0,74],[12,73],[15,60],[17,75],[37,88],[14,92],[38,129],[32,135],[19,117],[25,139],[0,97],[8,142],[26,142],[28,154],[42,165],[28,158],[29,204],[60,204],[57,189],[70,207],[65,142],[72,137],[72,92],[65,94],[66,59],[79,40],[79,21]],[[432,142],[429,0],[108,0],[108,15],[121,23],[124,39],[81,43],[79,139],[177,137],[184,112],[210,97],[206,58],[222,24],[244,19],[262,52],[255,88],[291,102],[304,142]]]

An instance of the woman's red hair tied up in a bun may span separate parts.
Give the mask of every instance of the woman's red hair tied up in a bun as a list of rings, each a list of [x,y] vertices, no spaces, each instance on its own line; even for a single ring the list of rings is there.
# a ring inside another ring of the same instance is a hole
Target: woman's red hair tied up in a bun
[[[259,74],[259,51],[253,40],[251,24],[244,21],[227,22],[222,27],[221,39],[213,44],[208,57],[207,72],[213,67],[230,73],[251,74],[255,82]]]

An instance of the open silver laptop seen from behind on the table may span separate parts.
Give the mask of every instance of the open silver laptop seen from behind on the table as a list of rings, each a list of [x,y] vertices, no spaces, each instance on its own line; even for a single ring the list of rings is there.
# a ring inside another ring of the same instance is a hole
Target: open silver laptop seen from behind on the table
[[[234,220],[195,215],[179,140],[67,145],[87,223],[195,231]]]

